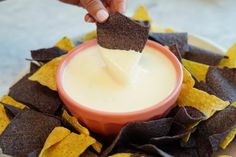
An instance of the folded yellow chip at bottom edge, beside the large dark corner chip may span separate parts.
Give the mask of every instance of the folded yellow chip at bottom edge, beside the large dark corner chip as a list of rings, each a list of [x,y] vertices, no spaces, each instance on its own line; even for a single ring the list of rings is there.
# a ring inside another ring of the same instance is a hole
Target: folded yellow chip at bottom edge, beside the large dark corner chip
[[[64,134],[65,135],[65,134]],[[56,137],[50,137],[49,135],[48,139],[54,139]],[[56,136],[56,134],[53,134],[53,136]],[[63,137],[63,136],[60,136]],[[47,144],[47,141],[44,144]],[[39,157],[78,157],[81,155],[90,145],[95,143],[96,140],[93,139],[90,136],[84,135],[84,134],[75,134],[70,133],[66,137],[64,137],[60,142],[57,142],[53,144],[51,147],[47,148],[43,152],[40,153]]]

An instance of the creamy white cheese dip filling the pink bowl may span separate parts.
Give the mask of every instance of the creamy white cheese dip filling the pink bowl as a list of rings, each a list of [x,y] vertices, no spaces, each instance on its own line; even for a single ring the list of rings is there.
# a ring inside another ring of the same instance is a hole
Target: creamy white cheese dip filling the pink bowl
[[[111,75],[99,46],[86,48],[66,66],[63,88],[78,104],[99,111],[121,113],[151,107],[174,90],[176,71],[157,50],[146,46],[142,53],[132,83],[124,84]]]

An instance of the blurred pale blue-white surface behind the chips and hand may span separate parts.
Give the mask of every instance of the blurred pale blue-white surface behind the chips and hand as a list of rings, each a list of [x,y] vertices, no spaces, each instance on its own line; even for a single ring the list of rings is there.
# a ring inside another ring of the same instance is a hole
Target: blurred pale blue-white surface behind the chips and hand
[[[128,0],[127,15],[140,4],[159,26],[203,36],[226,49],[236,43],[235,0]],[[57,0],[0,2],[0,96],[26,67],[30,50],[95,29],[84,22],[85,13]]]

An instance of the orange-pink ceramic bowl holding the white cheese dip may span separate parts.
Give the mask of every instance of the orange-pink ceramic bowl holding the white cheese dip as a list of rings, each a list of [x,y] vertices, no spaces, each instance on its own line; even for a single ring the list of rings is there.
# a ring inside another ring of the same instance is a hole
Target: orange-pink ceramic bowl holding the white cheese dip
[[[176,86],[174,90],[166,96],[166,98],[153,106],[135,111],[135,112],[124,112],[124,113],[113,113],[113,112],[103,112],[95,109],[88,108],[75,102],[68,96],[65,92],[62,84],[63,71],[68,64],[68,62],[77,54],[84,49],[96,45],[96,40],[85,42],[77,47],[75,47],[60,63],[57,72],[57,87],[59,95],[70,110],[70,112],[78,118],[79,122],[86,125],[92,131],[102,134],[102,135],[115,135],[119,132],[122,126],[132,121],[142,121],[149,120],[153,118],[160,118],[165,116],[175,105],[175,101],[180,93],[181,84],[183,81],[183,71],[182,66],[178,59],[165,47],[157,44],[153,41],[147,41],[146,46],[150,46],[157,51],[157,53],[163,53],[174,65],[177,75]]]

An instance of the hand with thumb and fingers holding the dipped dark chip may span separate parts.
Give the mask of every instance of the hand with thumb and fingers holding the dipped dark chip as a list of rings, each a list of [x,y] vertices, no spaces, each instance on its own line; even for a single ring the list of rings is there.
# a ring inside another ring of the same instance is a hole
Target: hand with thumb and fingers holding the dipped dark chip
[[[60,0],[81,6],[88,11],[84,19],[86,22],[104,22],[109,17],[109,13],[120,12],[125,13],[126,0]]]

